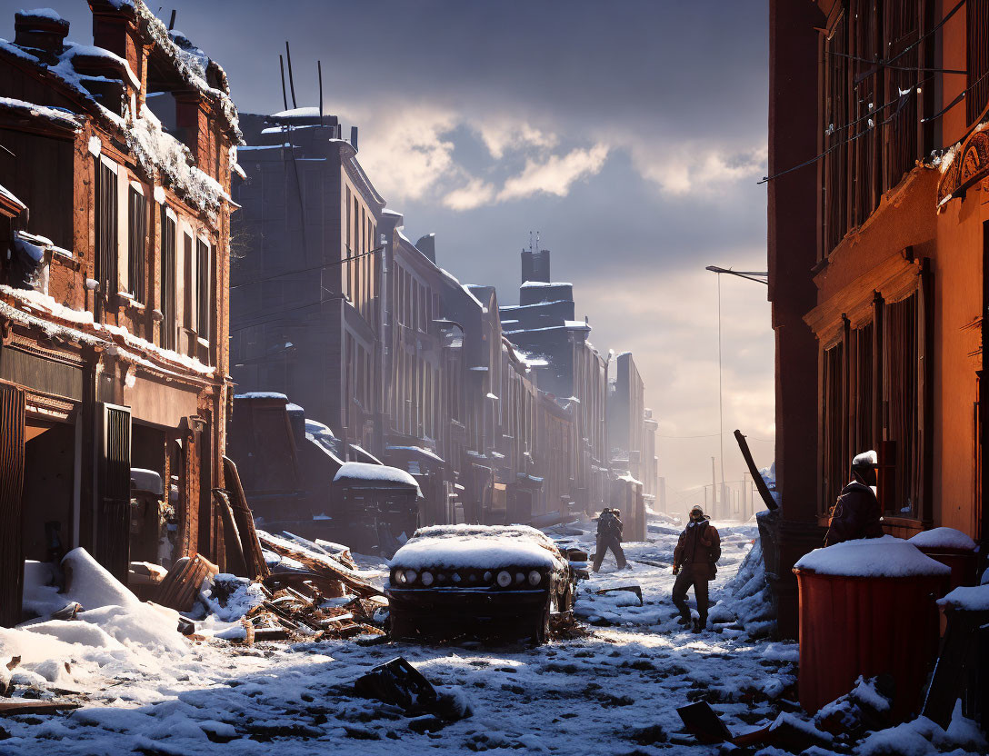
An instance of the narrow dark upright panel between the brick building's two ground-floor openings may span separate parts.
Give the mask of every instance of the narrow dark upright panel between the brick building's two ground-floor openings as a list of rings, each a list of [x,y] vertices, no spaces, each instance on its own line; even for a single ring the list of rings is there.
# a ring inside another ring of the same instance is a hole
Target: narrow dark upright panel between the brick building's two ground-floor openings
[[[131,409],[100,406],[96,559],[123,583],[130,561]]]

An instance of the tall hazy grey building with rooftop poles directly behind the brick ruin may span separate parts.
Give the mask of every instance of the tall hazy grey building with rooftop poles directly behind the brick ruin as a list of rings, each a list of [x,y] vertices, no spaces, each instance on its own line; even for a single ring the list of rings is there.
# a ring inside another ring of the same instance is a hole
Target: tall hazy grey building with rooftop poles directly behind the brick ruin
[[[381,446],[384,200],[334,117],[245,115],[233,229],[232,376],[283,392],[362,449]]]

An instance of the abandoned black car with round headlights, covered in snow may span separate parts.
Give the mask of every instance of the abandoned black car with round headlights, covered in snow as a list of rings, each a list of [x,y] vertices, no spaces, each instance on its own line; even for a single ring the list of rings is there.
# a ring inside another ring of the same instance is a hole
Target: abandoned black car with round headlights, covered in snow
[[[393,637],[462,633],[546,640],[572,610],[577,573],[546,535],[522,525],[420,528],[391,561]]]

